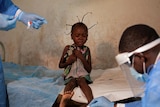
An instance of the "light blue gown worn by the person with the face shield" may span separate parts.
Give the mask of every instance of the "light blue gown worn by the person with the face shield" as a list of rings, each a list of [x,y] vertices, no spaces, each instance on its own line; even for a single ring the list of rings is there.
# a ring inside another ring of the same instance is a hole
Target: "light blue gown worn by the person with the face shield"
[[[160,60],[149,73],[144,93],[142,101],[125,104],[125,107],[160,107]]]

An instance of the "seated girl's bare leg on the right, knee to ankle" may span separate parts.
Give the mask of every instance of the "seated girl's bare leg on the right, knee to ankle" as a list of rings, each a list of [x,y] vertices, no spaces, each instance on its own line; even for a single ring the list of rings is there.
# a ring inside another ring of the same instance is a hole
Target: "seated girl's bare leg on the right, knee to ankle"
[[[88,103],[90,103],[93,99],[93,94],[92,94],[92,90],[89,87],[89,85],[87,84],[86,80],[84,77],[80,77],[77,79],[77,84],[79,85],[79,87],[81,88],[81,90],[83,91],[83,93],[85,94]]]

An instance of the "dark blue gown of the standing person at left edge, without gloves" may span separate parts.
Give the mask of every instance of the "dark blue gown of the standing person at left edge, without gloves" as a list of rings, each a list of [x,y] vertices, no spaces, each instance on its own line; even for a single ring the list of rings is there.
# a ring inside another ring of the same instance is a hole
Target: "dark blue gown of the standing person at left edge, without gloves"
[[[13,4],[11,0],[0,0],[0,13],[14,16],[19,8]],[[4,81],[4,73],[2,61],[0,59],[0,107],[7,106],[6,86]]]

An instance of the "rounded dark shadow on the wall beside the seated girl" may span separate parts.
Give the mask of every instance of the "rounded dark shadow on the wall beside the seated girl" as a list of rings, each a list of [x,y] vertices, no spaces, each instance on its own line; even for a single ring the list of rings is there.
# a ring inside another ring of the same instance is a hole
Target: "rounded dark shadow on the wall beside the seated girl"
[[[93,59],[94,69],[107,69],[116,67],[115,51],[113,45],[107,42],[103,42],[98,45],[96,49],[96,59]]]

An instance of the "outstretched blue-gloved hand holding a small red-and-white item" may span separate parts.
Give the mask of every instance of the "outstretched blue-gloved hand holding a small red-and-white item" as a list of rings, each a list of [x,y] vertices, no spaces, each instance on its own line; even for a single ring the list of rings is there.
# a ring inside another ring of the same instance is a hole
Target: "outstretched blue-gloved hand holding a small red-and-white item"
[[[35,29],[39,29],[44,23],[47,23],[43,17],[25,12],[21,12],[18,15],[18,20],[23,22],[25,25],[27,25],[28,22],[31,22],[31,27]]]

